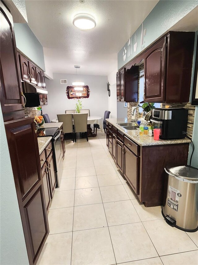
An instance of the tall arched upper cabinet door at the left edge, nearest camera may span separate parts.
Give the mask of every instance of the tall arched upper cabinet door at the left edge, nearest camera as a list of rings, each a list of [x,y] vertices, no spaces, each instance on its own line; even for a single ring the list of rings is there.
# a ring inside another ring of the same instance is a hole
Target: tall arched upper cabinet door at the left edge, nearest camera
[[[0,99],[2,113],[6,114],[23,110],[23,113],[20,112],[21,116],[18,119],[23,118],[25,117],[24,102],[21,96],[20,67],[16,52],[13,20],[10,12],[2,2],[0,2],[0,51]],[[10,117],[9,120],[12,119],[13,117]]]

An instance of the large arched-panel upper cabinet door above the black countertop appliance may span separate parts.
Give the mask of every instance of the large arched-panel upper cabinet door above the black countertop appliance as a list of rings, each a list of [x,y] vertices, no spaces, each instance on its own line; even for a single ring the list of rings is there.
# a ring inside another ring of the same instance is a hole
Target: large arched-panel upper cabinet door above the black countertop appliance
[[[144,101],[165,101],[166,38],[153,45],[144,60]]]

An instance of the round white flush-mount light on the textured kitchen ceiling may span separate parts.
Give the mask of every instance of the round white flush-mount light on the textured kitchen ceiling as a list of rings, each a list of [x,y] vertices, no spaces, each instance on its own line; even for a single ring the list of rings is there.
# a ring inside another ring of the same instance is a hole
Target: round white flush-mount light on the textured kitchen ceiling
[[[73,24],[81,30],[90,30],[95,28],[96,21],[95,18],[89,14],[77,14],[73,19]]]

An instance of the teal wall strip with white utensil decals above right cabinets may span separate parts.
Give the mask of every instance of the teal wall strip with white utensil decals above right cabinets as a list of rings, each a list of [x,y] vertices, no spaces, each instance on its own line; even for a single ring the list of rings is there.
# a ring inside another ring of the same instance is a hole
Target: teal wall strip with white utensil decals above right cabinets
[[[198,5],[198,1],[184,1],[184,0],[160,0],[149,15],[143,21],[143,32],[146,29],[146,34],[141,45],[142,24],[132,35],[131,50],[128,56],[128,40],[123,48],[118,52],[118,69],[131,61],[133,57],[139,54],[142,50],[153,43],[162,34],[168,31],[174,24],[186,16]],[[136,38],[135,38],[136,36]],[[136,41],[135,41],[136,39]],[[137,42],[137,49],[134,51],[134,45]],[[125,49],[124,49],[125,48]],[[126,51],[125,61],[123,60],[123,52]]]

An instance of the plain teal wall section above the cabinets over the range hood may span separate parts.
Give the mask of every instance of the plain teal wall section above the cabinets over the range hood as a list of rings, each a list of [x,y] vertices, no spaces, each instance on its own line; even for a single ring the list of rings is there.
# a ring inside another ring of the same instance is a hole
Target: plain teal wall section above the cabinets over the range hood
[[[26,23],[14,23],[16,47],[45,71],[43,46]]]

